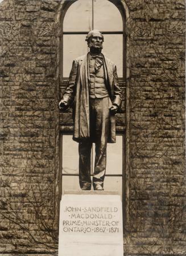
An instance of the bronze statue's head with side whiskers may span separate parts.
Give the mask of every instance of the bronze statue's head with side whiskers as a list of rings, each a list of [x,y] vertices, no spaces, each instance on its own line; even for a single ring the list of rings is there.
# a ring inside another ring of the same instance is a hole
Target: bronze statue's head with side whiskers
[[[90,49],[102,49],[104,36],[99,30],[91,30],[88,35],[86,35],[86,39],[88,46]]]

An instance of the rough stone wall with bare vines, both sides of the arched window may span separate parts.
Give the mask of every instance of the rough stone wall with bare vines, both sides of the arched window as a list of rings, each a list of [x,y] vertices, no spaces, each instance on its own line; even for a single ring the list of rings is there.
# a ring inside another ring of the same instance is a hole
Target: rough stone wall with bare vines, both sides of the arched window
[[[57,248],[61,2],[0,3],[0,254],[53,255]],[[124,249],[126,255],[185,255],[185,3],[126,4],[130,219]]]

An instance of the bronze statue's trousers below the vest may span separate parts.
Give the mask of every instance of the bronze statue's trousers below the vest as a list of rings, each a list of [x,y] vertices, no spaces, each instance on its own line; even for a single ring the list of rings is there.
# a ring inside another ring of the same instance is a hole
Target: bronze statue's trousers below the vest
[[[79,143],[80,187],[91,187],[91,149],[95,143],[96,157],[94,163],[93,186],[104,184],[106,170],[106,146],[110,131],[110,98],[90,98],[90,139]]]

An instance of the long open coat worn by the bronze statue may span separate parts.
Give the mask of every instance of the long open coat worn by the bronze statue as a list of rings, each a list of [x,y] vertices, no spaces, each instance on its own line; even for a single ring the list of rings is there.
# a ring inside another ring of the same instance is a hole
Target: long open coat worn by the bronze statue
[[[117,106],[121,105],[121,89],[118,85],[116,66],[110,59],[104,58],[105,84],[109,92],[111,102]],[[72,64],[69,83],[63,95],[68,103],[74,101],[74,134],[73,140],[81,142],[90,137],[89,121],[89,53],[83,55]],[[110,133],[108,142],[115,142],[115,116],[110,116]]]

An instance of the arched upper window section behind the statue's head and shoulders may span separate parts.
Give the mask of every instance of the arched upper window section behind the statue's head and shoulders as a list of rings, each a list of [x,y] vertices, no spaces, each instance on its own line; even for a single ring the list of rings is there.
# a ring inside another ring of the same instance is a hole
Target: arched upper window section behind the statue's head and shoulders
[[[62,17],[61,79],[68,78],[73,59],[89,49],[85,35],[92,29],[105,37],[102,52],[117,66],[118,77],[126,79],[125,10],[119,0],[66,1]]]

